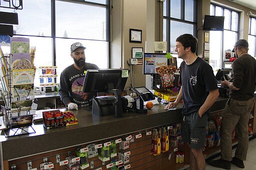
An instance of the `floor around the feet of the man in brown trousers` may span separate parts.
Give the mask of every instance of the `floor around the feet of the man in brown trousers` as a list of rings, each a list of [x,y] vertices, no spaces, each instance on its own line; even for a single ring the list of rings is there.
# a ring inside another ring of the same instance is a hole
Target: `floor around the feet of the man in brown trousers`
[[[234,151],[235,149],[233,149],[233,156],[234,156]],[[217,157],[213,160],[217,160],[219,158],[220,157]],[[243,161],[243,164],[244,164],[244,169],[240,169],[235,165],[231,164],[231,170],[256,170],[256,138],[249,141],[247,158],[246,158],[246,161]],[[205,170],[223,170],[223,169],[211,167],[206,163]]]

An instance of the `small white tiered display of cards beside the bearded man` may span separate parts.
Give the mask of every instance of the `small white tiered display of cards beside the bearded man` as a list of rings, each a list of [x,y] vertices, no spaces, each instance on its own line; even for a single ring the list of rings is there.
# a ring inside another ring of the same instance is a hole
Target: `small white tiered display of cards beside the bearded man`
[[[54,92],[58,87],[58,83],[56,83],[56,68],[57,66],[40,66],[40,90],[44,92]]]

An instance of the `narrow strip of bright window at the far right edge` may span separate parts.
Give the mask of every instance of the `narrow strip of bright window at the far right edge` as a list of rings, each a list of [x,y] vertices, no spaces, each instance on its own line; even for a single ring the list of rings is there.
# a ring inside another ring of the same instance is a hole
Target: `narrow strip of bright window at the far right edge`
[[[256,18],[249,17],[249,34],[248,34],[249,50],[248,53],[256,57]]]

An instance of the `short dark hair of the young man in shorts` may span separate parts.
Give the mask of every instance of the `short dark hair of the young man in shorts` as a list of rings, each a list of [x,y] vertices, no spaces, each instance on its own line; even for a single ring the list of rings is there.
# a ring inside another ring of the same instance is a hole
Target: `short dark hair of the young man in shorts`
[[[191,48],[191,52],[195,53],[196,48],[197,48],[197,38],[195,38],[193,35],[191,34],[183,34],[183,35],[179,35],[176,38],[176,42],[180,42],[183,46],[184,49],[186,49],[187,47]]]

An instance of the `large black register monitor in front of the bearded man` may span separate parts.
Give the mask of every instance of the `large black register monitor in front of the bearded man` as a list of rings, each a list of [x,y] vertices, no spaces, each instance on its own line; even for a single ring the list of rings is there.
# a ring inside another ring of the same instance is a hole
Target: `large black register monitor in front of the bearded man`
[[[123,90],[128,78],[128,69],[88,69],[83,83],[83,92],[108,92]]]

